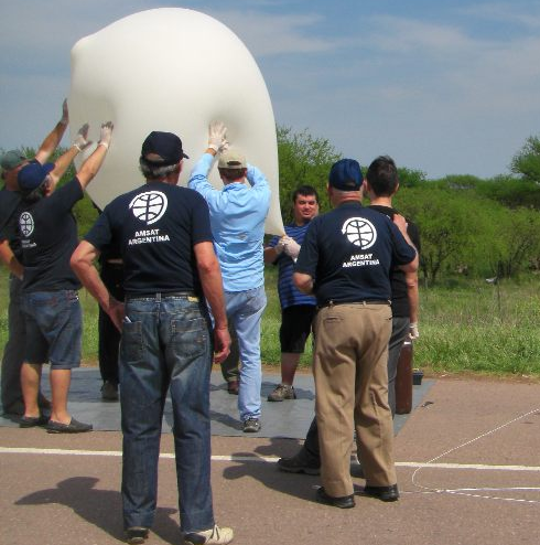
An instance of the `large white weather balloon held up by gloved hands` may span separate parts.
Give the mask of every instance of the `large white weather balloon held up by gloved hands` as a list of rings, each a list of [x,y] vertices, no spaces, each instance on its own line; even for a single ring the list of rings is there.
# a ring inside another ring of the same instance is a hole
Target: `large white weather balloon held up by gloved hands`
[[[270,97],[253,57],[223,23],[197,11],[161,8],[83,38],[72,50],[68,104],[72,131],[88,121],[97,140],[101,122],[115,124],[107,159],[88,186],[99,207],[141,185],[139,157],[150,131],[171,131],[182,139],[190,156],[180,181],[185,185],[207,147],[208,124],[222,120],[228,140],[270,182],[267,233],[283,233]],[[210,181],[223,186],[215,167]]]

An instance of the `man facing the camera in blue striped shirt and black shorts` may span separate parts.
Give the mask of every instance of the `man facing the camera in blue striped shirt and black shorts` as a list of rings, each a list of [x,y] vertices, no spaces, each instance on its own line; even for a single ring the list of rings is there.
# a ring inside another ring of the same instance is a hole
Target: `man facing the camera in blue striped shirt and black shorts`
[[[279,267],[278,293],[281,306],[281,383],[269,394],[269,402],[295,399],[293,381],[300,355],[311,333],[316,301],[302,293],[292,281],[294,260],[304,241],[310,222],[318,214],[315,188],[301,185],[292,195],[293,223],[285,225],[285,235],[274,236],[264,248],[264,263]]]

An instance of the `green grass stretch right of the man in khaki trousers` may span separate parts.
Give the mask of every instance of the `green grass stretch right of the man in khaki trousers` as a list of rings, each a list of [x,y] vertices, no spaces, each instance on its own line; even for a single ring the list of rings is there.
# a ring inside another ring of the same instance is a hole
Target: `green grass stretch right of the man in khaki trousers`
[[[538,281],[423,289],[415,366],[433,372],[540,376]]]

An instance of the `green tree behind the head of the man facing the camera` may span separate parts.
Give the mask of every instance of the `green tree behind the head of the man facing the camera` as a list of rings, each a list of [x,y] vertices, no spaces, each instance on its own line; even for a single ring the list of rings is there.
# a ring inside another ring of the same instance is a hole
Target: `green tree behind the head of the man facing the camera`
[[[280,171],[280,203],[283,223],[292,221],[292,193],[299,185],[313,185],[321,199],[321,212],[328,210],[326,182],[332,164],[342,156],[326,138],[311,136],[306,129],[293,132],[277,127]]]

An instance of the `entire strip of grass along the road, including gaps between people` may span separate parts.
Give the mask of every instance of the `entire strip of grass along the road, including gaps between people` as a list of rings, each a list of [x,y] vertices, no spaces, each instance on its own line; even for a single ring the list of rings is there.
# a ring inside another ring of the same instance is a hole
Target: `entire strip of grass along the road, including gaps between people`
[[[276,267],[266,268],[268,306],[262,318],[261,355],[279,366],[279,306]],[[8,274],[0,271],[0,345],[8,336]],[[540,296],[534,277],[503,281],[454,281],[420,290],[420,340],[414,366],[432,373],[474,373],[540,378]],[[97,317],[94,299],[80,291],[84,311],[83,363],[97,362]],[[301,366],[311,365],[307,342]]]

